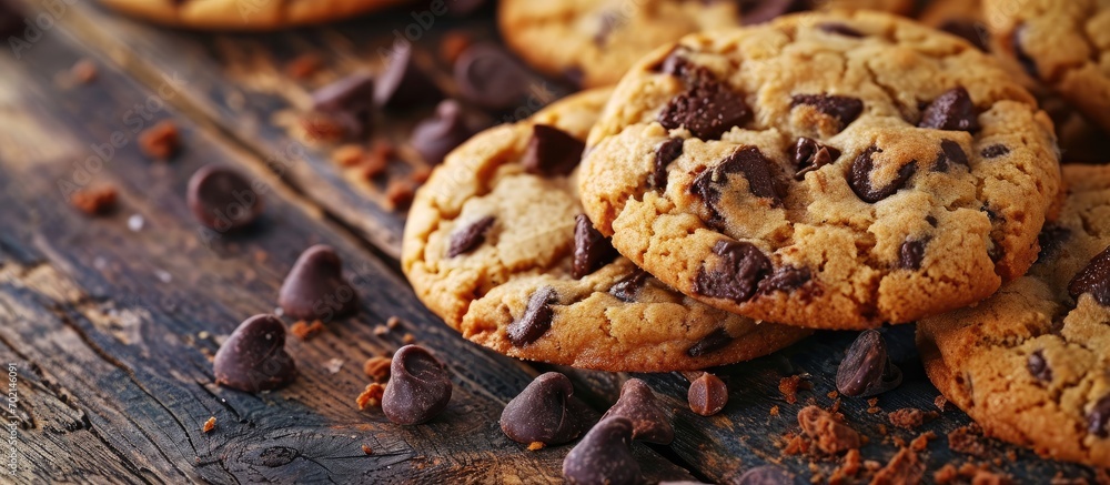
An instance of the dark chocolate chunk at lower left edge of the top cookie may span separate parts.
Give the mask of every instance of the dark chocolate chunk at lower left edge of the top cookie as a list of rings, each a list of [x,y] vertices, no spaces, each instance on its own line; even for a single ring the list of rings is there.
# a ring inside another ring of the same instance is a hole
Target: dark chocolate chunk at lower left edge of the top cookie
[[[750,243],[720,240],[713,246],[720,256],[713,269],[702,266],[694,292],[743,303],[755,295],[759,281],[770,273],[770,260]]]

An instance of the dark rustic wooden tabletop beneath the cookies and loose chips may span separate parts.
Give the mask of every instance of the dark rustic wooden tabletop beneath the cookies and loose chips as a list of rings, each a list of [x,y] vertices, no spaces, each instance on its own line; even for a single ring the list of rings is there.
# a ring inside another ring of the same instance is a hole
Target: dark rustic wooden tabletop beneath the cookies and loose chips
[[[41,38],[18,55],[0,53],[0,358],[14,364],[18,381],[19,483],[562,481],[569,446],[529,452],[497,426],[505,403],[552,368],[460,339],[400,274],[404,213],[389,206],[383,185],[420,162],[396,163],[386,176],[366,181],[333,163],[331,146],[305,144],[290,128],[312,89],[359,68],[379,69],[375,49],[411,22],[407,10],[270,34],[174,31],[88,2],[44,14],[53,22]],[[454,29],[496,36],[488,13],[465,22],[437,18],[418,43],[434,52]],[[324,72],[291,79],[283,67],[307,52],[324,61]],[[447,81],[446,67],[432,58],[422,60]],[[67,72],[81,59],[95,63],[98,77],[73,85]],[[537,85],[565,92],[555,81]],[[428,111],[380,119],[377,137],[403,143]],[[169,163],[140,154],[133,131],[162,119],[174,120],[184,141]],[[107,152],[113,134],[125,143],[98,162],[95,146]],[[206,163],[234,166],[269,188],[253,230],[210,240],[190,216],[185,183]],[[67,183],[114,185],[120,206],[87,218],[67,203]],[[129,228],[135,214],[143,222],[138,231]],[[216,386],[211,358],[221,339],[246,316],[272,312],[282,277],[319,242],[342,255],[362,313],[307,342],[290,339],[301,370],[291,386],[260,395]],[[398,316],[402,329],[375,335],[374,326],[390,316]],[[367,382],[362,363],[400,346],[406,333],[444,358],[455,383],[446,412],[413,427],[354,404]],[[912,327],[886,335],[906,382],[878,400],[881,412],[869,413],[861,398],[840,404],[869,436],[865,459],[885,464],[896,442],[931,431],[938,438],[921,454],[928,481],[942,465],[966,462],[987,462],[1031,483],[1058,474],[1094,477],[1090,468],[997,442],[989,442],[987,457],[953,453],[946,435],[969,420],[951,408],[916,431],[889,426],[887,412],[935,410],[938,392],[917,362]],[[825,332],[720,370],[730,401],[714,417],[689,412],[682,376],[639,375],[675,411],[678,434],[670,446],[636,444],[645,474],[729,482],[776,463],[799,483],[827,479],[836,458],[784,455],[783,436],[798,430],[795,415],[807,403],[833,404],[833,375],[852,339]],[[598,413],[628,377],[557,370]],[[813,388],[788,403],[779,380],[799,374]],[[215,430],[203,433],[213,416]],[[1005,458],[1011,451],[1016,461]],[[1003,458],[992,463],[993,456]]]

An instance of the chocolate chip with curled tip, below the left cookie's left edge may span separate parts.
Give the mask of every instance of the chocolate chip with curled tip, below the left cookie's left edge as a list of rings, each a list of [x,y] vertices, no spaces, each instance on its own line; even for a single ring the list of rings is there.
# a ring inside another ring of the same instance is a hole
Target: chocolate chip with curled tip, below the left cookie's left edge
[[[440,414],[451,401],[451,378],[443,363],[417,345],[393,354],[382,412],[396,424],[421,424]]]

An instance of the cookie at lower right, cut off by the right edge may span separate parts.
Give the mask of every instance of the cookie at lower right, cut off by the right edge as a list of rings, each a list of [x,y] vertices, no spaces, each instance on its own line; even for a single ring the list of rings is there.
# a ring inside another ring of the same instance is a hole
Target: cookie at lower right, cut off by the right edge
[[[1110,168],[1066,165],[1060,219],[1029,274],[926,319],[929,378],[992,436],[1110,466]]]

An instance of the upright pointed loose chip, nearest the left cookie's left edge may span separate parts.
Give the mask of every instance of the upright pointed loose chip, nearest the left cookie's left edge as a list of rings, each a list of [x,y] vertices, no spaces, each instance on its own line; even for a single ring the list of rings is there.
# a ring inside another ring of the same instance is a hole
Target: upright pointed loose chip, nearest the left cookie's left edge
[[[294,319],[326,323],[356,313],[359,294],[343,279],[335,250],[316,244],[296,259],[278,293],[278,305]]]

